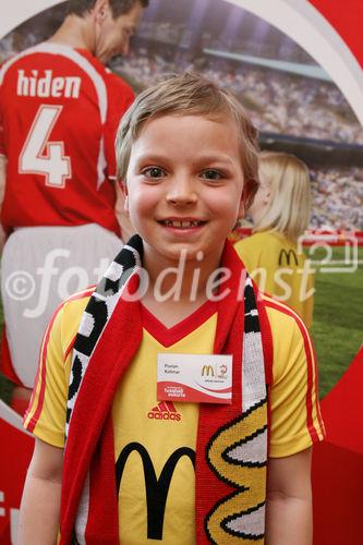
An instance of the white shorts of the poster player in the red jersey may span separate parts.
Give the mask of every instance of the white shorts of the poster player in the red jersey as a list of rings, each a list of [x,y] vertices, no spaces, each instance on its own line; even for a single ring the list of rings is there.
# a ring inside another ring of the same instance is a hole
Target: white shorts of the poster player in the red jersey
[[[10,235],[1,258],[2,371],[9,378],[33,387],[56,307],[97,283],[121,246],[121,239],[95,223],[22,228]]]

